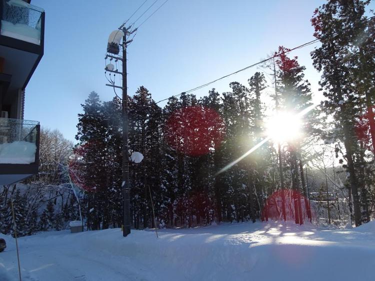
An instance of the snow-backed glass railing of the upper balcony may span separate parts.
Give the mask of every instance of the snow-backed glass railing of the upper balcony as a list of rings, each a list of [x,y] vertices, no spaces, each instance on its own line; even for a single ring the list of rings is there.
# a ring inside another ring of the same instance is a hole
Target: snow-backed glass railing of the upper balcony
[[[22,0],[0,0],[1,35],[40,45],[44,10]]]

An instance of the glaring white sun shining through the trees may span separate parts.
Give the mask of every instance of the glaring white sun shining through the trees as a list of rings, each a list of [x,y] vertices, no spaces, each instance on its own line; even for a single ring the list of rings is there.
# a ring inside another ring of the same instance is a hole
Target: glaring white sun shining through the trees
[[[266,123],[266,133],[276,143],[295,140],[301,135],[301,118],[288,112],[278,112]]]

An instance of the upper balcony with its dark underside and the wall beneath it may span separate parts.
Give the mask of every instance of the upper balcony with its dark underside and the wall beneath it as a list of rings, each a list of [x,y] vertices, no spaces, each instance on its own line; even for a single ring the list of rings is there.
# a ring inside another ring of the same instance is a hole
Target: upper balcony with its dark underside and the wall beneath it
[[[23,91],[44,52],[44,11],[0,0],[0,111],[21,119]]]

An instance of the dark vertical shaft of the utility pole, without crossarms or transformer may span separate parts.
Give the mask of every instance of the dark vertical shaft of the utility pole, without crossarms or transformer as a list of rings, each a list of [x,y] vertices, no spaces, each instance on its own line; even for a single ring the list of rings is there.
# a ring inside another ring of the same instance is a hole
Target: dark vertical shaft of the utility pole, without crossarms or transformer
[[[122,37],[122,206],[123,230],[122,236],[130,234],[130,182],[129,182],[129,155],[127,148],[127,80],[126,80],[126,27],[123,27]]]

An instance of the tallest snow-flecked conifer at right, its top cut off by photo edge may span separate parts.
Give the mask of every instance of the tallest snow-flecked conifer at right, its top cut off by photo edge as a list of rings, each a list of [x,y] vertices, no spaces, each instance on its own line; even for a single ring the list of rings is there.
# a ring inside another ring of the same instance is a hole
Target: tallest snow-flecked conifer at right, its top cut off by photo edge
[[[354,163],[355,153],[358,151],[354,120],[360,115],[360,99],[357,94],[360,87],[355,87],[353,84],[355,71],[352,69],[352,61],[347,58],[352,55],[353,49],[354,51],[358,49],[359,55],[356,57],[359,58],[362,66],[363,63],[366,65],[367,62],[371,63],[373,59],[367,61],[368,56],[360,52],[360,47],[358,48],[358,42],[356,42],[360,37],[355,32],[355,29],[361,29],[364,7],[368,3],[369,1],[360,0],[329,0],[315,9],[311,19],[315,28],[314,36],[321,42],[321,46],[311,52],[311,57],[314,67],[323,72],[319,82],[323,95],[327,98],[323,103],[323,110],[326,114],[333,115],[337,129],[334,137],[344,143],[347,162],[344,167],[349,175],[348,191],[349,198],[351,196],[353,198],[356,226],[361,224],[361,212],[358,172]],[[356,76],[355,79],[361,81],[360,76],[362,75]],[[349,208],[351,209],[351,205]]]

